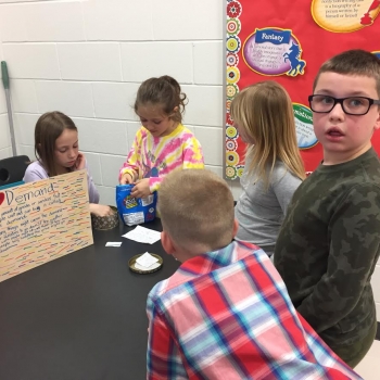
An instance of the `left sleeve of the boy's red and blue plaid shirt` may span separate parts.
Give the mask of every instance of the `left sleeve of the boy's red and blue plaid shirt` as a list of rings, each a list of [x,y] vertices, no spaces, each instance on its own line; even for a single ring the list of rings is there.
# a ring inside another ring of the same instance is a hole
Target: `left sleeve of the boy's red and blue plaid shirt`
[[[188,379],[181,356],[172,338],[164,318],[157,313],[150,296],[147,302],[148,351],[147,351],[147,379]]]

